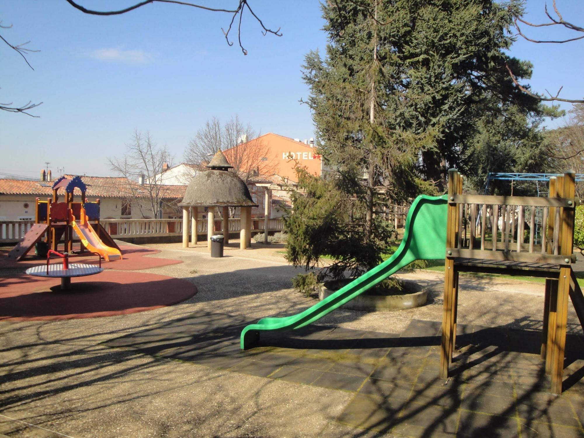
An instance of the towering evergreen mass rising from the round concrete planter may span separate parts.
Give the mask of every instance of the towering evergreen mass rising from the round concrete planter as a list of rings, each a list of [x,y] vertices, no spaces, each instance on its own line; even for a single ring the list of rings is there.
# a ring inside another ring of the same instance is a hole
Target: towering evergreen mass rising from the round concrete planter
[[[333,182],[317,190],[318,180],[310,179],[301,187],[304,193],[297,194],[288,217],[295,224],[290,227],[291,261],[309,267],[329,254],[370,267],[378,262],[370,255],[388,246],[387,233],[376,227],[376,214],[387,203],[442,192],[451,167],[478,180],[477,169],[488,171],[492,164],[481,154],[493,141],[506,140],[496,150],[502,154],[517,145],[527,150],[528,142],[515,140],[534,133],[537,124],[530,120],[541,115],[541,107],[507,73],[509,65],[517,78],[531,74],[529,62],[506,53],[513,42],[507,6],[491,0],[322,4],[329,44],[325,57],[318,51],[307,54],[303,77],[310,87],[306,103],[318,149]],[[513,121],[507,123],[509,115]],[[512,134],[505,132],[510,125]],[[541,140],[536,137],[531,135],[529,144]],[[514,162],[528,158],[513,157]],[[331,202],[338,208],[326,202],[333,189]],[[345,244],[323,237],[331,224]],[[354,244],[356,235],[361,244]]]

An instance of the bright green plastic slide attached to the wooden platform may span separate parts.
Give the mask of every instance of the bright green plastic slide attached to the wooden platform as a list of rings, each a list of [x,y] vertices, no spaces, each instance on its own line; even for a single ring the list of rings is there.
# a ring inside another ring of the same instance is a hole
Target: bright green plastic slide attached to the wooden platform
[[[394,255],[374,267],[331,296],[297,315],[283,318],[262,318],[241,332],[241,349],[252,347],[262,330],[284,331],[304,327],[340,305],[352,300],[383,281],[413,260],[443,259],[446,253],[447,196],[420,195],[413,201],[405,223],[404,238]]]

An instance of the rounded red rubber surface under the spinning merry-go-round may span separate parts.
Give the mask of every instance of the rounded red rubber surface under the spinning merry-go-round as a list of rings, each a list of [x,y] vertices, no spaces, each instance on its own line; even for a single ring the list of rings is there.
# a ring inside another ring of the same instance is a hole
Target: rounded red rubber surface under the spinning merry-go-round
[[[111,317],[177,304],[197,293],[189,281],[140,272],[77,277],[67,291],[60,284],[25,274],[0,276],[0,321]]]

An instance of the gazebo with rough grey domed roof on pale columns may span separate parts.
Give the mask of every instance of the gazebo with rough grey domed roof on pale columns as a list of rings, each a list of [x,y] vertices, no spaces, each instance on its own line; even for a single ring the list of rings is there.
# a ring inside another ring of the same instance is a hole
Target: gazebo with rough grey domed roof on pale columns
[[[235,172],[223,155],[218,151],[206,166],[210,170],[196,175],[186,189],[185,197],[179,206],[183,208],[183,246],[189,246],[189,212],[191,218],[192,243],[197,244],[197,215],[199,207],[208,207],[207,213],[207,248],[211,249],[211,235],[215,228],[215,207],[222,208],[224,242],[229,242],[229,207],[241,208],[239,217],[241,227],[239,232],[240,248],[251,246],[251,213],[253,202],[245,182]]]

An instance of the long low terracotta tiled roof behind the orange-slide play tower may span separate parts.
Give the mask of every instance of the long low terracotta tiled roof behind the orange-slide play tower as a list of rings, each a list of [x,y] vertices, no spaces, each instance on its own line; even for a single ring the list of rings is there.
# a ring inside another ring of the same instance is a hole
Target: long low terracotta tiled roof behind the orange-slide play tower
[[[65,175],[73,178],[74,175]],[[131,182],[128,186],[126,178],[110,176],[82,176],[87,186],[86,196],[100,198],[126,197],[135,190],[137,196],[148,197],[147,190],[138,183]],[[20,179],[0,179],[0,194],[31,194],[34,196],[51,196],[54,181],[35,181]],[[161,186],[161,197],[164,199],[182,199],[185,196],[186,186]],[[62,190],[60,190],[62,192]]]

